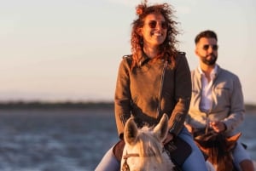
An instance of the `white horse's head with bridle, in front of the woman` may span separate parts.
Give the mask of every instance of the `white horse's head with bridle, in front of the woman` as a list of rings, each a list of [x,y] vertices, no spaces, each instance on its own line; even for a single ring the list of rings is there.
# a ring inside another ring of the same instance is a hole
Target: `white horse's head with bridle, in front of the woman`
[[[171,171],[174,164],[162,144],[168,133],[168,117],[163,115],[154,128],[137,128],[131,117],[125,123],[125,148],[121,161],[122,171]]]

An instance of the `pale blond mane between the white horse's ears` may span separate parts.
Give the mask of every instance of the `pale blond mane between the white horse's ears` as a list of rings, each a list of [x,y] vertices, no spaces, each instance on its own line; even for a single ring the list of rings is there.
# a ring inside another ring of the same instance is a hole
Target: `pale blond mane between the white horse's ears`
[[[157,162],[162,162],[161,153],[163,147],[159,140],[152,133],[153,128],[143,127],[138,130],[137,145],[140,149],[140,157],[144,160],[145,157],[156,157]]]

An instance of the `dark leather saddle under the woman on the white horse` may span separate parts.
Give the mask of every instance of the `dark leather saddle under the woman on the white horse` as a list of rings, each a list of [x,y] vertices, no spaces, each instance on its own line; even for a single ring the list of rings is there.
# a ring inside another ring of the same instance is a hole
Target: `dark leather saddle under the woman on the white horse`
[[[122,159],[123,151],[125,147],[125,141],[119,140],[119,142],[113,146],[113,155],[120,162]],[[165,149],[169,157],[177,166],[182,166],[183,162],[189,157],[192,152],[191,146],[184,140],[176,137],[165,145]]]

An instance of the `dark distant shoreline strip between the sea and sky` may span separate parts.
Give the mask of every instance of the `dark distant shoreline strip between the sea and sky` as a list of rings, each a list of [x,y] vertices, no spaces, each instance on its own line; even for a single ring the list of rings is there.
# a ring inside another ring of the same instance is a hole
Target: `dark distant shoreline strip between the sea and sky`
[[[0,109],[110,109],[113,101],[86,102],[44,102],[44,101],[8,101],[0,102]],[[246,104],[246,111],[256,111],[256,105]]]

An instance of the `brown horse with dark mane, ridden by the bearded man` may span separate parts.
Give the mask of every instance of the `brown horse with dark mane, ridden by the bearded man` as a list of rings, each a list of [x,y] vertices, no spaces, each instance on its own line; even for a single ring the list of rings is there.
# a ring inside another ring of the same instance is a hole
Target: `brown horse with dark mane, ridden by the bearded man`
[[[240,136],[241,133],[226,137],[224,134],[215,133],[213,130],[207,134],[201,134],[201,131],[194,133],[195,143],[206,154],[207,160],[217,171],[237,170],[234,166],[232,150]]]

